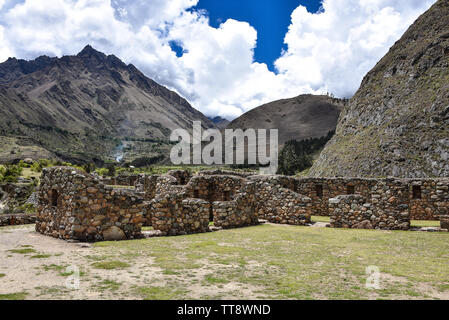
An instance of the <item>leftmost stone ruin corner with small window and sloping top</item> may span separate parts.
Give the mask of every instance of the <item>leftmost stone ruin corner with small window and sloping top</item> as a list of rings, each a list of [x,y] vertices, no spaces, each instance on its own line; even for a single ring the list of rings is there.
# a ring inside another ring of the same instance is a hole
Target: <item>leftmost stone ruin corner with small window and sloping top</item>
[[[73,168],[44,169],[36,231],[80,241],[141,237],[143,198],[133,190],[106,187]]]

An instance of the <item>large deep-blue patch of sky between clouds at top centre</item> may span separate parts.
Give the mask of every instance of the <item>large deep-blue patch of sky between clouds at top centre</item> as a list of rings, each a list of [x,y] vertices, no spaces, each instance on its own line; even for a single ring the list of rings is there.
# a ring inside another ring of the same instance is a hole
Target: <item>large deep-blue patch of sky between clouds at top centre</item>
[[[321,0],[200,0],[194,10],[207,10],[209,23],[217,28],[228,19],[249,22],[258,33],[254,59],[275,71],[274,62],[282,49],[287,50],[284,37],[291,23],[290,16],[299,5],[315,13]]]

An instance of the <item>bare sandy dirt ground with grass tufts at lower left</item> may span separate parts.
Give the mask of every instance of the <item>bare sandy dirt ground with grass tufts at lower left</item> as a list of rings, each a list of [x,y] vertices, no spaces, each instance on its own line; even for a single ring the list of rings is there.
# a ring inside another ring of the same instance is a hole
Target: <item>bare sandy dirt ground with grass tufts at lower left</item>
[[[126,285],[133,283],[133,266],[126,271],[96,270],[91,267],[96,254],[97,249],[89,244],[38,234],[34,225],[1,228],[0,294],[24,293],[26,299],[111,299],[126,291],[124,298],[138,299]],[[72,288],[74,269],[69,266],[81,272],[77,290]]]

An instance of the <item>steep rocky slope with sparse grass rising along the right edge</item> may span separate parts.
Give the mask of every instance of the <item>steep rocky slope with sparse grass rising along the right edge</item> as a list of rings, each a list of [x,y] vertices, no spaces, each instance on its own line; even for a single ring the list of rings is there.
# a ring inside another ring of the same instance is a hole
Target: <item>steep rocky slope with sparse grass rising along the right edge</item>
[[[449,176],[449,1],[364,78],[312,176]]]

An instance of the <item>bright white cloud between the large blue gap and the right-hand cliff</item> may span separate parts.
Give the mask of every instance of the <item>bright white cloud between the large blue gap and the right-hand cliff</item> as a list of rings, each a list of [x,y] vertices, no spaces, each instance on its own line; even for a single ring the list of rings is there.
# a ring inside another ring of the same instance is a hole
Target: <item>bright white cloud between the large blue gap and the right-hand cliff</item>
[[[298,7],[279,72],[298,86],[349,97],[434,0],[325,0],[319,14]]]

